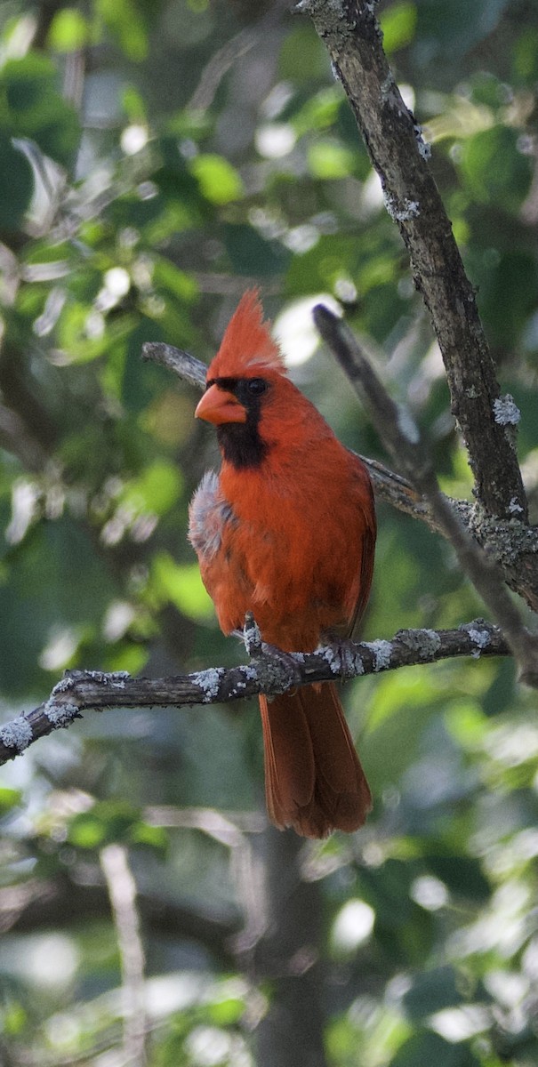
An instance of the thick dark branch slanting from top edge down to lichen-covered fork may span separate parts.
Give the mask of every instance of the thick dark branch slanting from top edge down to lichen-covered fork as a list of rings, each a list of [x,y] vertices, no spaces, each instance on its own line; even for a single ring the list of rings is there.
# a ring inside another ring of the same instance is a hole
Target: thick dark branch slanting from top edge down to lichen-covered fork
[[[469,451],[475,494],[490,515],[527,519],[513,448],[519,418],[501,398],[474,289],[428,166],[425,144],[382,48],[371,0],[300,0],[312,17],[354,112],[383,187],[389,213],[409,251],[414,281],[430,312]]]

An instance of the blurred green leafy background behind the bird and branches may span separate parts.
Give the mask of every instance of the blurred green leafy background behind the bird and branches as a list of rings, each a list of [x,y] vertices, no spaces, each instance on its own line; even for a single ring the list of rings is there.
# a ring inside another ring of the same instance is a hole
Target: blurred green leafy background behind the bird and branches
[[[380,18],[502,388],[523,411],[536,513],[536,7],[387,0]],[[248,285],[262,285],[296,381],[347,444],[384,458],[317,349],[320,294],[377,352],[446,491],[469,496],[471,480],[398,233],[305,19],[247,0],[4,0],[0,35],[10,718],[68,667],[158,675],[241,656],[185,532],[215,442],[194,425],[192,391],[140,351],[163,339],[208,361]],[[385,507],[379,521],[365,636],[480,612],[444,543]],[[303,864],[322,899],[328,1062],[536,1064],[534,696],[509,663],[470,660],[364,679],[346,699],[374,813],[353,839],[306,844]],[[231,938],[257,898],[262,781],[254,707],[89,714],[3,769],[6,1064],[136,1062],[104,874],[114,843],[151,905],[147,1063],[254,1062],[271,987]]]

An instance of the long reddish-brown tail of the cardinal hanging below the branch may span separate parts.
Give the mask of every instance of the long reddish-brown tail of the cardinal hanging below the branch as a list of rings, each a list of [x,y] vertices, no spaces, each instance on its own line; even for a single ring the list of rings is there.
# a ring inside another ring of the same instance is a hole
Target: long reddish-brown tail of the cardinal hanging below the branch
[[[363,825],[371,795],[332,682],[259,697],[269,817],[305,838]]]

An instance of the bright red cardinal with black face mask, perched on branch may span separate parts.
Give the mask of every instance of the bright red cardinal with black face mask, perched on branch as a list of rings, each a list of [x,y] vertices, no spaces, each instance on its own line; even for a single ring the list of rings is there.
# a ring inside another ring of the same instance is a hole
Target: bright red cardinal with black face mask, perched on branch
[[[252,611],[286,652],[350,634],[374,568],[370,480],[287,378],[257,291],[242,297],[206,381],[195,415],[217,427],[222,465],[194,494],[189,538],[222,631]],[[259,708],[274,825],[307,838],[362,826],[371,797],[336,686],[260,696]]]

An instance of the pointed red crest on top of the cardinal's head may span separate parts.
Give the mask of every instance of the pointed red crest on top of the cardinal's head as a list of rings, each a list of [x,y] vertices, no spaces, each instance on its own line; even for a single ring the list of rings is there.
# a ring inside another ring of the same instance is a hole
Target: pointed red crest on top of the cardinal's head
[[[227,324],[207,378],[254,378],[266,370],[286,372],[269,323],[264,321],[259,290],[249,289]]]

